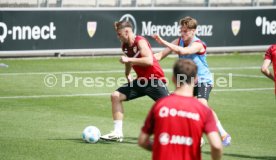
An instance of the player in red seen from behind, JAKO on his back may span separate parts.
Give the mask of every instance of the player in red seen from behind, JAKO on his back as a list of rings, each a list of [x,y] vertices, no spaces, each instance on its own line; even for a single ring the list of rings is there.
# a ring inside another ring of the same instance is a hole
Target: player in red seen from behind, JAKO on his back
[[[175,91],[150,110],[138,144],[152,150],[153,160],[201,160],[202,133],[207,135],[212,160],[221,159],[222,143],[212,110],[193,97],[196,74],[191,60],[178,60],[173,68]]]

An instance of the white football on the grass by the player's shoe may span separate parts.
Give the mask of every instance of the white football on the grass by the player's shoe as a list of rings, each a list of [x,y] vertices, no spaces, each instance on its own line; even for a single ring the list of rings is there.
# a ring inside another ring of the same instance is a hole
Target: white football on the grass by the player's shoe
[[[100,130],[95,126],[88,126],[82,132],[82,139],[88,143],[96,143],[101,137]]]

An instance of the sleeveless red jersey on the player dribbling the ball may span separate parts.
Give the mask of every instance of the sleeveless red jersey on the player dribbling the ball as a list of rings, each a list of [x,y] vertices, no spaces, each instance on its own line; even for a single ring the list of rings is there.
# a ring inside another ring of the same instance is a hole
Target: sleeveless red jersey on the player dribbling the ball
[[[142,36],[136,36],[134,44],[132,46],[128,46],[127,44],[122,45],[122,50],[123,52],[128,56],[128,57],[133,57],[133,58],[140,58],[142,57],[140,53],[140,49],[138,47],[138,42],[140,40],[145,40],[148,43],[148,46],[151,50],[151,46],[149,42]],[[153,57],[153,65],[152,66],[139,66],[139,65],[132,65],[132,68],[137,74],[137,78],[146,78],[146,79],[161,79],[163,82],[165,81],[165,76],[164,72],[161,69],[158,61],[153,55],[153,52],[151,51],[151,55]]]

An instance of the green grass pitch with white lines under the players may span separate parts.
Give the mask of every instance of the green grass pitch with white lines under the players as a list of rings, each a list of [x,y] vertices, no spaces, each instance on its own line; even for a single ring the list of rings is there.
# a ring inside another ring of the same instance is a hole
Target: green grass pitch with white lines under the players
[[[140,128],[153,104],[148,97],[124,103],[124,142],[87,144],[81,139],[88,125],[97,126],[102,134],[113,128],[110,93],[118,85],[93,86],[91,80],[123,79],[124,66],[118,59],[1,59],[0,63],[9,68],[0,68],[0,159],[151,159],[151,153],[137,145]],[[168,57],[161,61],[169,80],[175,60]],[[262,61],[263,54],[208,57],[215,82],[227,82],[224,86],[215,84],[209,100],[232,136],[232,145],[224,148],[224,160],[276,159],[274,85],[260,73]],[[55,80],[47,80],[49,74],[57,80],[53,87],[45,85]],[[170,83],[169,90],[173,89]],[[202,156],[210,159],[208,144],[202,148]]]

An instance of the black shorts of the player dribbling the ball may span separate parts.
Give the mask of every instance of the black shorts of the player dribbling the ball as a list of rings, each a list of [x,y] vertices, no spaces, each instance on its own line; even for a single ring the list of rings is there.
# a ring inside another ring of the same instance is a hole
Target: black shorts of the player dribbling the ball
[[[117,91],[126,95],[127,101],[145,95],[156,101],[159,98],[169,95],[167,86],[158,79],[148,81],[135,79],[130,83],[124,84],[122,87],[118,88]]]

